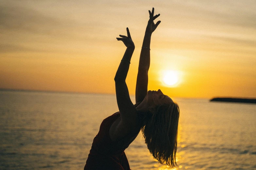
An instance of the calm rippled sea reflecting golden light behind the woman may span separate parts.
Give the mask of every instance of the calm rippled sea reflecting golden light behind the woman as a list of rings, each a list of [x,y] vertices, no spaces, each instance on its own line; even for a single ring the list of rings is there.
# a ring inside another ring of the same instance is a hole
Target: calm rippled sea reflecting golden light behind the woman
[[[256,105],[174,100],[177,169],[256,169]],[[83,169],[101,121],[116,111],[115,95],[0,91],[0,169]],[[171,169],[141,133],[126,155],[132,170]]]

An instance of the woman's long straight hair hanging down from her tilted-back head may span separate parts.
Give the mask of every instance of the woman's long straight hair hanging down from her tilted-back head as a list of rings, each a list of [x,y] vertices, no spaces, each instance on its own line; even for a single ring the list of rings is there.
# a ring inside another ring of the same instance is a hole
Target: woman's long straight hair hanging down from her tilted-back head
[[[143,122],[141,131],[153,157],[161,164],[177,167],[178,104],[157,106],[153,115],[146,114]]]

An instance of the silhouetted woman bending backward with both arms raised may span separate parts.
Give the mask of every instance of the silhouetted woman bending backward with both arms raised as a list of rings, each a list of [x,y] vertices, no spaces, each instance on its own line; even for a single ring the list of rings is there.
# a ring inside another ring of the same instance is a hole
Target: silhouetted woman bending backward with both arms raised
[[[150,39],[161,22],[154,23],[154,20],[160,16],[160,14],[154,16],[154,8],[152,12],[149,11],[149,15],[140,54],[136,104],[132,104],[125,82],[130,59],[135,49],[127,28],[127,36],[120,35],[121,38],[117,38],[127,47],[114,78],[119,112],[102,121],[88,155],[85,170],[130,170],[124,150],[137,137],[140,130],[147,148],[159,163],[166,163],[171,167],[177,166],[175,157],[179,106],[161,90],[147,92]]]

